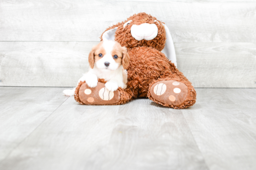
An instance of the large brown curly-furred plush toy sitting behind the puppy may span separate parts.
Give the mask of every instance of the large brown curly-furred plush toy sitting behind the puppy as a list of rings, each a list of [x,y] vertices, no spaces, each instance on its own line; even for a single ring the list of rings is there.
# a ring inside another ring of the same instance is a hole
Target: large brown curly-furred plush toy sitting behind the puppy
[[[118,88],[103,99],[104,79],[99,79],[95,88],[80,82],[74,94],[76,101],[89,105],[119,105],[137,97],[148,97],[175,109],[195,104],[195,89],[175,66],[174,45],[164,23],[146,13],[138,13],[109,27],[101,35],[101,40],[105,39],[115,40],[128,50],[127,88]],[[88,88],[90,94],[85,93]]]

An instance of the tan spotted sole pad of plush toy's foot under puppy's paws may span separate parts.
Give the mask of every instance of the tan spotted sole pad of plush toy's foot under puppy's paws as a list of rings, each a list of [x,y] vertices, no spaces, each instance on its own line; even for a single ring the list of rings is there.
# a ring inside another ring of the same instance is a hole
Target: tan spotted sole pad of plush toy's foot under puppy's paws
[[[105,83],[98,82],[95,88],[88,87],[87,83],[79,89],[79,99],[87,105],[108,105],[115,104],[121,99],[119,90],[114,92],[105,88]]]

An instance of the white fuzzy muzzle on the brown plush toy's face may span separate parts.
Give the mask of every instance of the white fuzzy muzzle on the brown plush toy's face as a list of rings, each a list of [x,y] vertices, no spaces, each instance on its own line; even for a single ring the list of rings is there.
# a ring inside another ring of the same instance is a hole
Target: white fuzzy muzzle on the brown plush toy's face
[[[158,28],[155,24],[143,23],[141,25],[132,25],[131,34],[133,38],[140,41],[142,39],[152,40],[158,34]]]

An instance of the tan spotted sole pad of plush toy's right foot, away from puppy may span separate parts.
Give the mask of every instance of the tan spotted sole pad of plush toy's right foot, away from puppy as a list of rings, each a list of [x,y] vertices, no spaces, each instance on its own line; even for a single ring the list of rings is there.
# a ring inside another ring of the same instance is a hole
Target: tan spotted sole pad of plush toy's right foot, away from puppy
[[[186,99],[188,87],[178,81],[165,80],[153,84],[150,90],[151,96],[164,104],[178,106]]]

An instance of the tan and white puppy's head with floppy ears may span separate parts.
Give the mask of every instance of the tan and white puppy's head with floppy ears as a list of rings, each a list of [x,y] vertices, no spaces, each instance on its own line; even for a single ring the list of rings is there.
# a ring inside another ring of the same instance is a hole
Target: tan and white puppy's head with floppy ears
[[[98,69],[110,71],[118,69],[120,65],[127,69],[129,61],[126,47],[112,40],[101,41],[89,53],[89,64],[92,69],[96,66]]]

